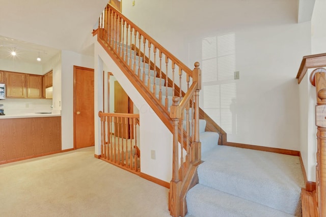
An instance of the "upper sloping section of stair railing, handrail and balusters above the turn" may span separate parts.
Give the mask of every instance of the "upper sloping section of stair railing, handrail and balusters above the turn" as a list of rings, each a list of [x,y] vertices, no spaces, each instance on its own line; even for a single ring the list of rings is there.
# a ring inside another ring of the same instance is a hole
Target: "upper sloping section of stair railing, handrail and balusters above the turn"
[[[99,29],[102,43],[138,77],[162,109],[168,112],[173,96],[182,99],[193,82],[191,69],[110,4],[99,18]]]

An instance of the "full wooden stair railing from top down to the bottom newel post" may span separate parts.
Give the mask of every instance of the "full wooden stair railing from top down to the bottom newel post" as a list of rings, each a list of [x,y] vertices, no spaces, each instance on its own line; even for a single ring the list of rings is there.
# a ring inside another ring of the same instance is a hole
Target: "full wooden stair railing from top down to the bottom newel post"
[[[197,165],[201,162],[199,63],[195,63],[194,70],[189,69],[110,4],[99,18],[98,29],[98,42],[173,133],[169,209],[173,216],[184,216],[185,194],[196,184]]]

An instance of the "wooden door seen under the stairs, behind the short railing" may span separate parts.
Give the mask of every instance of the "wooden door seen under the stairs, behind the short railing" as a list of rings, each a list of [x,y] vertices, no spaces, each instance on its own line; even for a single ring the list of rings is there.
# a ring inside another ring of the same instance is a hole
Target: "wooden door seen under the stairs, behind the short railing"
[[[119,84],[118,81],[114,82],[114,113],[124,113],[124,114],[132,114],[133,113],[133,103]],[[121,132],[124,132],[122,138],[130,139],[130,135],[132,135],[132,129],[130,132],[129,123],[128,125],[119,125],[115,123],[115,135],[118,135],[118,130],[121,135]]]

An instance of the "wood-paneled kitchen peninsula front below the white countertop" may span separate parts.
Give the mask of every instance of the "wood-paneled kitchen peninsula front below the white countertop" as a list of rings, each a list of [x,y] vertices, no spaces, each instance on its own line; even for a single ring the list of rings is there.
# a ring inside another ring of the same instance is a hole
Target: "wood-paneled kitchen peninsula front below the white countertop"
[[[0,164],[61,152],[61,117],[1,119]]]

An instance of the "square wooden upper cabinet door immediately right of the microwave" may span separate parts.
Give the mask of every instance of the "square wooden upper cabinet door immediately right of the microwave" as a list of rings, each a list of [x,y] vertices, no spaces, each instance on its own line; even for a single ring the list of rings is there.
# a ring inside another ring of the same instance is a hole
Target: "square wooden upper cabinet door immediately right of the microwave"
[[[25,74],[6,72],[6,97],[25,98],[26,82]]]

